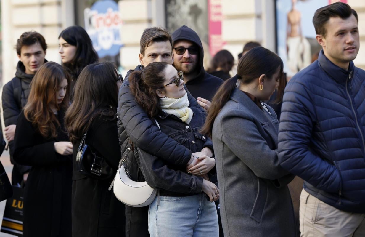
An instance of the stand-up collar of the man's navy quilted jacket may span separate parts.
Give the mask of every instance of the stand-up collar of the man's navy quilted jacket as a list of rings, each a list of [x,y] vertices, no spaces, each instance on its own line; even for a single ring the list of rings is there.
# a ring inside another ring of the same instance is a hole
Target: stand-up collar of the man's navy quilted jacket
[[[345,83],[346,80],[349,78],[351,73],[351,78],[353,77],[354,73],[354,62],[351,61],[349,64],[349,70],[345,70],[340,68],[339,66],[335,65],[331,62],[323,53],[323,50],[320,51],[318,56],[318,62],[320,67],[330,76],[333,80],[337,81],[338,83]]]

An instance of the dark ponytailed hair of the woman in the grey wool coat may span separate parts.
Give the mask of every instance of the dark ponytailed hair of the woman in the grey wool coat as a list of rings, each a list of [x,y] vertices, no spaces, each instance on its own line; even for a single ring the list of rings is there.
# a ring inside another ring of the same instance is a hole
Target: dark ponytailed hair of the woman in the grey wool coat
[[[280,102],[284,94],[285,78],[283,72],[283,61],[279,56],[277,56],[277,54],[265,49],[264,47],[254,47],[249,50],[239,60],[236,76],[225,81],[213,97],[212,104],[209,108],[207,119],[201,129],[201,133],[212,137],[214,120],[224,104],[226,104],[228,99],[231,97],[234,88],[236,88],[238,79],[240,79],[239,85],[245,85],[250,84],[255,79],[258,79],[262,74],[265,74],[268,78],[272,78],[278,67],[280,67],[280,79],[275,102]]]

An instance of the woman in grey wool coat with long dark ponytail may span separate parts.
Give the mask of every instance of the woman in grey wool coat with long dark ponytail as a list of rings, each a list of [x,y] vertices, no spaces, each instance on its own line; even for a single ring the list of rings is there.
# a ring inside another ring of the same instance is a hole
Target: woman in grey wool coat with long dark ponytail
[[[239,60],[237,75],[225,81],[212,100],[201,132],[213,139],[224,236],[296,236],[287,187],[294,176],[278,163],[279,122],[262,102],[277,87],[280,100],[283,61],[255,47]]]

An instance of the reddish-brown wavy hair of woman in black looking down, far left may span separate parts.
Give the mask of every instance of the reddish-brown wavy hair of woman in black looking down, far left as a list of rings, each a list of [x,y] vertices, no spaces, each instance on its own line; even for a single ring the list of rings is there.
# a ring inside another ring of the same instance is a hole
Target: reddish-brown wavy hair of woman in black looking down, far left
[[[45,138],[57,137],[57,128],[60,126],[53,108],[66,109],[69,104],[69,90],[61,104],[57,104],[57,91],[62,81],[70,83],[69,76],[61,65],[55,62],[43,64],[30,84],[28,102],[24,107],[26,119],[32,122],[37,131]]]

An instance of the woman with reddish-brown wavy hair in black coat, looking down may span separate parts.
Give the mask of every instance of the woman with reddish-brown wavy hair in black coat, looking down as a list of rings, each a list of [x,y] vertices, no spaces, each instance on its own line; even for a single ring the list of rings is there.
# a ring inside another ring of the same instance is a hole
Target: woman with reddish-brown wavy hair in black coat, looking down
[[[71,236],[72,144],[64,127],[68,83],[61,65],[42,65],[18,118],[14,159],[32,166],[24,192],[24,237]]]

